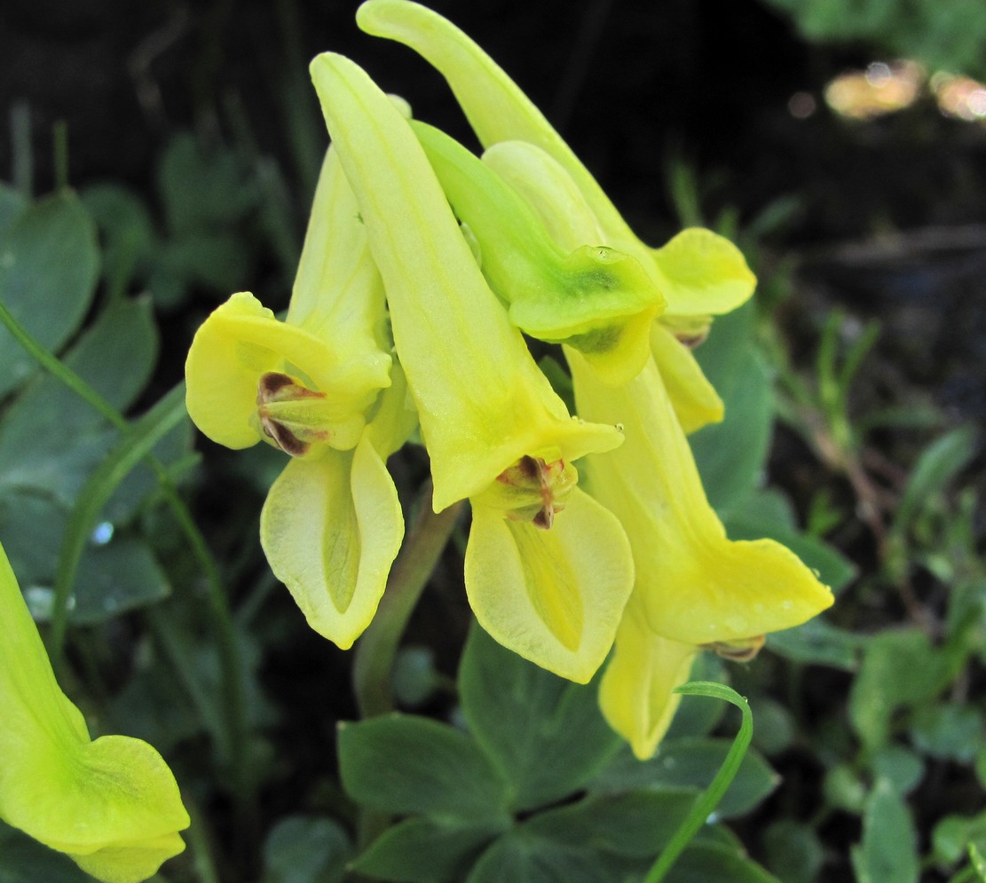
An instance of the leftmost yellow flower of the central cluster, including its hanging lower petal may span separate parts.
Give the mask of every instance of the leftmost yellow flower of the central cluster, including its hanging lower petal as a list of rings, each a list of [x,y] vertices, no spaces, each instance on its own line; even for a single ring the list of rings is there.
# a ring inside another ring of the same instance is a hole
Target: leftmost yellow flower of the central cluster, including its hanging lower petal
[[[267,495],[260,539],[312,628],[344,649],[373,618],[403,537],[386,460],[413,412],[391,371],[385,309],[329,151],[286,320],[236,294],[198,330],[185,365],[188,413],[206,436],[291,455]]]

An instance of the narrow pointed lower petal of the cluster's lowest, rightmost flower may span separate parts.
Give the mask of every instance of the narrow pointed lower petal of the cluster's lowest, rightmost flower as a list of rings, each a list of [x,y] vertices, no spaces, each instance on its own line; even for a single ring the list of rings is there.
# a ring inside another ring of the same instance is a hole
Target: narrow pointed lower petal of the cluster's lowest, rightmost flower
[[[599,708],[633,753],[646,760],[668,732],[681,702],[671,691],[688,680],[698,647],[655,635],[636,607],[631,600],[616,632],[599,684]]]

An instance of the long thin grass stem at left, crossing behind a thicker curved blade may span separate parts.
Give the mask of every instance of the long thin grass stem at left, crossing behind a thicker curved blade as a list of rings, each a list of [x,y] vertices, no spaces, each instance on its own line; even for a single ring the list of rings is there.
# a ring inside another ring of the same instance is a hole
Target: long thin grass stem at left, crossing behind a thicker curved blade
[[[124,436],[132,432],[131,425],[106,399],[92,388],[82,377],[60,362],[42,347],[34,337],[13,316],[10,310],[0,303],[0,322],[14,339],[49,374],[55,376],[69,389],[101,414],[108,423]],[[222,579],[216,561],[209,551],[205,537],[195,524],[188,508],[177,493],[166,467],[152,453],[144,456],[144,461],[153,470],[165,502],[172,509],[176,522],[188,541],[188,548],[206,578],[209,612],[212,626],[219,645],[220,668],[223,680],[223,699],[225,701],[226,726],[230,746],[230,760],[237,777],[234,788],[241,806],[251,804],[249,786],[249,764],[246,757],[246,701],[242,680],[240,647],[236,625],[226,599]]]

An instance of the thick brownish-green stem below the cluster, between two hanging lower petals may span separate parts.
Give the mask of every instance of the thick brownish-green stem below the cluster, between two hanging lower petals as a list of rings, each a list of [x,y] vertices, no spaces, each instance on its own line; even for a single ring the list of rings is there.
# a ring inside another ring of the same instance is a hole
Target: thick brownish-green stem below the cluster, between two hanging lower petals
[[[421,495],[417,519],[390,572],[377,615],[356,645],[353,689],[361,717],[393,711],[390,676],[400,636],[435,570],[463,506],[459,502],[435,512],[431,497],[429,484]]]

